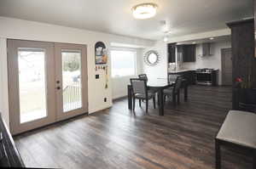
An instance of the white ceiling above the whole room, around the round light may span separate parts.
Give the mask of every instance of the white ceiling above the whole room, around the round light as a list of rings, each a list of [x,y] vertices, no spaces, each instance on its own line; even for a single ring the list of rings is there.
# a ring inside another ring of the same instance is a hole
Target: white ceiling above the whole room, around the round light
[[[157,3],[157,15],[135,20],[138,3]],[[223,29],[252,17],[253,0],[0,0],[0,16],[156,40],[164,36],[161,20],[170,37]]]

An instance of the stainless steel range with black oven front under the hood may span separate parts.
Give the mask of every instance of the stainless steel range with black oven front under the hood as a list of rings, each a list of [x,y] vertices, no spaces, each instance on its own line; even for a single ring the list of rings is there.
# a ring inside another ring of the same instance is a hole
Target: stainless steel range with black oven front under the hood
[[[208,68],[195,70],[196,84],[215,86],[217,82],[216,72],[217,70]]]

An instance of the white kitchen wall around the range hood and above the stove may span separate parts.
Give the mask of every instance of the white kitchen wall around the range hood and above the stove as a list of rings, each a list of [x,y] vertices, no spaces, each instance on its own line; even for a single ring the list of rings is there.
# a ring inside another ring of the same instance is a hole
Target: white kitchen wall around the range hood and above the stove
[[[199,56],[200,47],[196,47],[196,61],[190,63],[183,63],[181,69],[200,69],[211,68],[218,69],[218,85],[222,84],[222,70],[221,70],[221,49],[231,48],[231,42],[215,42],[212,43],[213,55],[211,56]]]

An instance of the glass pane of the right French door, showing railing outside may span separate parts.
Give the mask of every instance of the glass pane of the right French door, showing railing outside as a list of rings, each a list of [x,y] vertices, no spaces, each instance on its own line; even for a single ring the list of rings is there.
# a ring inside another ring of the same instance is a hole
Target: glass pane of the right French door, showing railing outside
[[[82,107],[81,95],[81,52],[61,51],[63,111]]]

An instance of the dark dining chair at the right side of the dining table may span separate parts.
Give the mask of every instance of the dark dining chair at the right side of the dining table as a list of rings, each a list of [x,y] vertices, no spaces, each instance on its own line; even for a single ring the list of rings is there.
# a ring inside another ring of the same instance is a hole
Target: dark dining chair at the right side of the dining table
[[[166,97],[172,97],[172,102],[175,105],[176,101],[179,104],[179,92],[182,87],[183,76],[177,76],[174,87],[164,89],[164,102],[166,103]],[[177,97],[177,100],[176,100]]]

